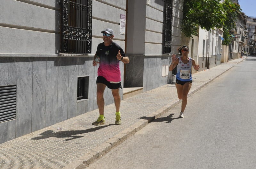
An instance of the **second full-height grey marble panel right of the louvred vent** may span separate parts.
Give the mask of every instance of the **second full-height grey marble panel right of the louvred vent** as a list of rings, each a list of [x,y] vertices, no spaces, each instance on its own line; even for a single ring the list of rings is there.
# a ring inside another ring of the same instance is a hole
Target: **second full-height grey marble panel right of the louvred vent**
[[[45,127],[46,58],[33,58],[31,132]]]

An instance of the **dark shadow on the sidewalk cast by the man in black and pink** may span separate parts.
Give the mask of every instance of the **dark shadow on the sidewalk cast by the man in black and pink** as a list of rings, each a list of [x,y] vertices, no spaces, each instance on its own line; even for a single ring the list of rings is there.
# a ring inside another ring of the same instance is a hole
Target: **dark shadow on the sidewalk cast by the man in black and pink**
[[[84,133],[97,131],[97,130],[100,130],[102,128],[112,126],[112,125],[115,125],[115,124],[108,124],[105,126],[94,127],[94,128],[86,129],[86,130],[67,130],[67,131],[58,131],[55,133],[53,132],[53,130],[47,130],[47,131],[44,131],[43,133],[41,133],[40,134],[41,136],[31,138],[31,140],[41,140],[41,139],[46,139],[49,137],[56,137],[56,138],[68,138],[65,141],[69,141],[69,140],[73,140],[76,138],[84,137],[84,136],[76,136],[78,134],[84,134]],[[72,137],[72,138],[69,138],[69,137]]]

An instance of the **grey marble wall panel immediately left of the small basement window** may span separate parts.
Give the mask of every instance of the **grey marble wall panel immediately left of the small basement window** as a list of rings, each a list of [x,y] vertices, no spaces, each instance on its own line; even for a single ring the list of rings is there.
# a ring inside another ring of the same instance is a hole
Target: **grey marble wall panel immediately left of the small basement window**
[[[77,76],[78,76],[78,57],[69,59],[68,73],[68,119],[77,116]]]

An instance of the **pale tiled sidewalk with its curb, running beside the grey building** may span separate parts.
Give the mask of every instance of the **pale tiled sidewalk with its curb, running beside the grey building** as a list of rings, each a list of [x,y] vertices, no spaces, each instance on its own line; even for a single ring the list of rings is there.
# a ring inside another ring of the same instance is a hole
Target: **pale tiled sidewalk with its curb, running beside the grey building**
[[[233,66],[221,64],[193,74],[189,95]],[[167,84],[122,100],[121,125],[115,125],[115,105],[110,104],[104,110],[105,125],[92,126],[96,109],[13,139],[0,144],[0,168],[84,168],[179,102],[175,84]]]

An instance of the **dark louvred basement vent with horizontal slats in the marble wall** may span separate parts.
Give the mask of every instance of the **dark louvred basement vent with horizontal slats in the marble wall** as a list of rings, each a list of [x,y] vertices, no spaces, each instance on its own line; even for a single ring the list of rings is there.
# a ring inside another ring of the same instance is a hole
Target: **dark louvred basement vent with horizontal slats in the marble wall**
[[[16,88],[0,86],[0,123],[16,119]]]

